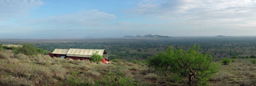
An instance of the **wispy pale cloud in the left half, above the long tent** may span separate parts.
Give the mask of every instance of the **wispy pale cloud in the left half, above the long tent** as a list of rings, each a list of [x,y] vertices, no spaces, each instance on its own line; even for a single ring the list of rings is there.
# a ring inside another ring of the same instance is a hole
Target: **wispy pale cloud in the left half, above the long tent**
[[[108,14],[96,10],[86,10],[76,13],[61,15],[61,16],[51,16],[39,19],[26,19],[19,20],[19,23],[53,23],[53,24],[82,24],[82,25],[104,25],[109,20],[116,18],[114,14]],[[26,22],[24,22],[26,21]]]

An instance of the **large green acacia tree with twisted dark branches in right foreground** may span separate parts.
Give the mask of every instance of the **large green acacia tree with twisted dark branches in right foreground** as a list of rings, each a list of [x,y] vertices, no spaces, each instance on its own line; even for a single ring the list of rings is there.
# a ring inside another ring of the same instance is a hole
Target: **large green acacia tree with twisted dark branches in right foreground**
[[[174,81],[187,78],[189,85],[193,82],[207,85],[208,78],[218,72],[219,65],[212,63],[211,55],[199,50],[200,46],[196,45],[187,51],[170,47],[149,59],[149,66]]]

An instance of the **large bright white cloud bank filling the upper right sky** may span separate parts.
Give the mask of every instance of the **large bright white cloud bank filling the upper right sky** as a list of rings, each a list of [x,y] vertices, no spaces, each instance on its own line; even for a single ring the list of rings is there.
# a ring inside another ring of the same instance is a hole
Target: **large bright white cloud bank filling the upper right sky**
[[[252,0],[146,0],[128,13],[180,24],[256,26]]]

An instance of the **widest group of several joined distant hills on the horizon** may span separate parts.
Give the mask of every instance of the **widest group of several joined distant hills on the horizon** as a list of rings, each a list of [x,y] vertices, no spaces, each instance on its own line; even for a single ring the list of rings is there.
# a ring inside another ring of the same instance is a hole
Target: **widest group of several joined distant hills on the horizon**
[[[137,35],[137,36],[135,36],[135,37],[134,37],[134,36],[127,35],[127,36],[124,36],[123,38],[167,39],[167,38],[172,38],[172,37],[148,34],[148,35],[144,35],[144,36]]]

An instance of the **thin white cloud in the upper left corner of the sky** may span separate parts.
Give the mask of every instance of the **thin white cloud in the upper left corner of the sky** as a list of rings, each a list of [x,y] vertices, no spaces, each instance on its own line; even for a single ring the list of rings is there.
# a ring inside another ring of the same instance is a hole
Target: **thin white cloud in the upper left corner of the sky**
[[[0,22],[29,15],[29,11],[43,5],[40,0],[0,0]]]

